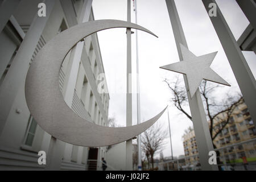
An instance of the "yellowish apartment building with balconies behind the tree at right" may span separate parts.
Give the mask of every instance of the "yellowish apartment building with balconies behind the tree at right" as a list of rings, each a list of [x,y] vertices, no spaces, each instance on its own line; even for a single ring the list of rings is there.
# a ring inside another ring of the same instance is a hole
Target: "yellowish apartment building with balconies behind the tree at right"
[[[256,140],[253,140],[256,138],[256,130],[247,106],[245,104],[237,106],[227,125],[225,125],[226,115],[221,114],[217,118],[218,121],[214,121],[213,124],[214,131],[218,131],[221,126],[225,126],[213,141],[217,148],[224,147],[220,150],[221,162],[243,163],[245,159],[247,162],[256,161]],[[252,141],[244,143],[247,140]],[[236,145],[236,143],[241,144]],[[187,164],[192,166],[199,164],[195,132],[193,130],[184,134],[183,146],[185,156],[191,156],[191,158],[186,159]]]

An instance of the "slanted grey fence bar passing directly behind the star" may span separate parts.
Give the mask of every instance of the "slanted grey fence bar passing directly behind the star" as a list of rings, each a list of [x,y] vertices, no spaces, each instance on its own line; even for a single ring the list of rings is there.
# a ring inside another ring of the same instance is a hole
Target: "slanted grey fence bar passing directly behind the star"
[[[172,30],[174,32],[174,38],[176,42],[177,51],[179,53],[180,60],[183,60],[181,54],[180,43],[183,46],[187,46],[187,41],[185,39],[185,35],[183,32],[183,28],[180,23],[179,14],[177,13],[177,9],[175,6],[174,0],[166,0],[166,5],[168,9],[168,13],[170,16]],[[196,93],[193,97],[189,94],[189,87],[187,76],[183,75],[185,87],[188,95],[189,108],[191,110],[193,127],[196,135],[197,148],[199,150],[200,163],[203,170],[212,171],[218,170],[217,165],[210,165],[208,162],[209,159],[209,151],[213,151],[212,138],[210,137],[209,126],[207,123],[207,118],[204,111],[203,101],[201,99],[201,95],[199,89],[196,90]]]

